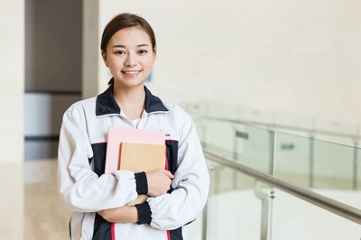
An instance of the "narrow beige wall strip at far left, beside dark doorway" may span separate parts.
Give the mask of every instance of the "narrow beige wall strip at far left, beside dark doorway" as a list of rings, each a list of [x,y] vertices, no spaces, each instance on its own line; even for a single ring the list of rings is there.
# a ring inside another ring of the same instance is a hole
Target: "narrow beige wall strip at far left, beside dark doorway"
[[[0,163],[23,162],[23,1],[0,1]]]

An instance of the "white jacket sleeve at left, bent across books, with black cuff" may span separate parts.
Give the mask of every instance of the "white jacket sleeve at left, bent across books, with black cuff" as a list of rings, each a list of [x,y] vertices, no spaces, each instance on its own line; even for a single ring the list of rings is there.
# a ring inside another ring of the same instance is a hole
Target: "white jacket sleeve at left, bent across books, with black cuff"
[[[137,189],[146,186],[145,174],[132,171],[98,177],[88,162],[92,156],[83,108],[74,104],[63,115],[58,151],[60,198],[69,210],[95,212],[118,208],[134,201]]]

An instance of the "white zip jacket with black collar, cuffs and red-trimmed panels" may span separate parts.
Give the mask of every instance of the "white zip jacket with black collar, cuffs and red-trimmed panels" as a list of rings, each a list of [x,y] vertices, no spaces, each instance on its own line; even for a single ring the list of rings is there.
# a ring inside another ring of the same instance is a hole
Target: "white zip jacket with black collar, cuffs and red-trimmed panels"
[[[199,216],[208,197],[209,175],[195,125],[180,106],[162,102],[144,87],[139,129],[166,133],[170,193],[138,205],[139,222],[110,224],[96,212],[134,201],[146,186],[144,174],[104,174],[109,126],[135,128],[113,97],[113,86],[81,100],[63,115],[59,142],[59,191],[73,211],[71,239],[187,239],[182,227]],[[145,185],[144,185],[145,184]]]

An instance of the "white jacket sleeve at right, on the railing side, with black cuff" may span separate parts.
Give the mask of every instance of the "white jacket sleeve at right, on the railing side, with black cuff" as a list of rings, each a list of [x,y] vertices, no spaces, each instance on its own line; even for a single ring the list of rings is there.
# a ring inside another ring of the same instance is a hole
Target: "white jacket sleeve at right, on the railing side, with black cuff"
[[[179,164],[174,173],[171,194],[148,198],[136,206],[138,224],[147,223],[157,229],[171,230],[184,226],[199,216],[206,204],[209,174],[195,125],[188,121],[181,127]]]

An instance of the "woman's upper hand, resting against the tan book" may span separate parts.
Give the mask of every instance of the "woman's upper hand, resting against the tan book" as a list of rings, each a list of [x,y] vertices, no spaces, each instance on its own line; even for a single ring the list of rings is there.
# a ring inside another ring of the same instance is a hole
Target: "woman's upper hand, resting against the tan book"
[[[171,171],[163,169],[147,171],[146,176],[148,182],[148,196],[158,197],[171,189],[171,179],[174,178]]]

